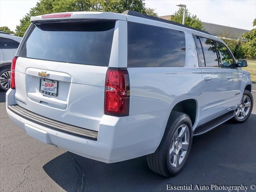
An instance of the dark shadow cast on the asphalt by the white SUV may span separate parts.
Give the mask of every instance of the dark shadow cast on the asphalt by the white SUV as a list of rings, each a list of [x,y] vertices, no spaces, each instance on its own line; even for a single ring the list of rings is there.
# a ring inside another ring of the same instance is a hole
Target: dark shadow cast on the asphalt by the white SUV
[[[225,123],[193,138],[182,171],[172,178],[152,172],[145,156],[106,164],[66,152],[43,166],[60,187],[73,191],[166,191],[166,184],[252,184],[256,180],[256,115]],[[238,142],[239,141],[239,142]]]

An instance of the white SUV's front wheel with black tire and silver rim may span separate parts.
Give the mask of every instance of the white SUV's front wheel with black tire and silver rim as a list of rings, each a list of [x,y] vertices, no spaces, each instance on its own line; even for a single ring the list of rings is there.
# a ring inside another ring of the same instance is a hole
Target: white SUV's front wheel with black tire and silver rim
[[[244,90],[242,100],[236,110],[234,111],[235,116],[232,118],[232,122],[242,123],[247,120],[252,112],[253,108],[253,97],[252,93],[248,90]]]

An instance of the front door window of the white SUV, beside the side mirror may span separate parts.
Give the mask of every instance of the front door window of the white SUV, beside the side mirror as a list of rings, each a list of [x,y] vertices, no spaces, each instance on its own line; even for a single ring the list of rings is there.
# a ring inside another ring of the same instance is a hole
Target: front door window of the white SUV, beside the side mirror
[[[228,51],[228,48],[226,48],[224,44],[218,41],[216,41],[216,44],[220,52],[220,60],[222,67],[234,68],[234,60],[232,55]]]

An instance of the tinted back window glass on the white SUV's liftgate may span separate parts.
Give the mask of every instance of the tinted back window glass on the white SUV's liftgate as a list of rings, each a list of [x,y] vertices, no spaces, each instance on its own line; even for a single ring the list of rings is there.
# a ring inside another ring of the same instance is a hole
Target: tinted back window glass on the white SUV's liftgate
[[[21,57],[108,66],[115,21],[35,24]]]

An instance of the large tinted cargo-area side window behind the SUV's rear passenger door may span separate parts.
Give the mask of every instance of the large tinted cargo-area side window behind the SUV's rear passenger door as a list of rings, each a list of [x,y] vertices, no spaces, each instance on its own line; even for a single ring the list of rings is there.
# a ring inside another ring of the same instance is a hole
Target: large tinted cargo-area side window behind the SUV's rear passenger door
[[[128,67],[183,67],[184,32],[128,22]]]

